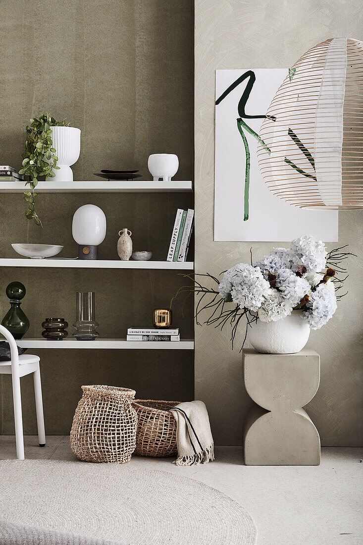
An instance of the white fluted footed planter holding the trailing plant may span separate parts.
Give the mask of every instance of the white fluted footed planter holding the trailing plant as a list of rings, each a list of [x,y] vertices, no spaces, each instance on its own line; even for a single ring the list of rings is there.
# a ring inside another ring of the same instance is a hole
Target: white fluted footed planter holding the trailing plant
[[[81,130],[75,127],[52,126],[52,144],[58,157],[57,167],[53,172],[55,178],[50,181],[73,181],[71,165],[78,160],[81,151]]]

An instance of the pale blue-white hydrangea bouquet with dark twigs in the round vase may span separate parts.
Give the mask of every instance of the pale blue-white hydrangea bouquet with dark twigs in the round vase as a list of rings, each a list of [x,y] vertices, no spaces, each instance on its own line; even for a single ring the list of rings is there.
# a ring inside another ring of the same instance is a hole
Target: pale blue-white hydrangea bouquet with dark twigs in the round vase
[[[238,263],[221,273],[221,281],[210,274],[183,275],[193,280],[193,285],[179,288],[176,296],[196,293],[199,325],[202,311],[211,313],[204,322],[207,325],[214,324],[223,329],[231,323],[232,348],[243,317],[246,318],[243,344],[249,326],[257,320],[277,322],[293,311],[300,311],[301,319],[310,329],[319,329],[335,313],[337,300],[346,295],[336,295],[347,278],[338,278],[337,273],[346,272],[341,263],[352,255],[345,252],[345,248],[342,246],[328,253],[322,241],[305,235],[293,240],[289,248],[275,248],[269,256],[255,263],[252,263],[251,251],[251,264]],[[196,280],[199,276],[210,278],[218,288],[203,286]]]

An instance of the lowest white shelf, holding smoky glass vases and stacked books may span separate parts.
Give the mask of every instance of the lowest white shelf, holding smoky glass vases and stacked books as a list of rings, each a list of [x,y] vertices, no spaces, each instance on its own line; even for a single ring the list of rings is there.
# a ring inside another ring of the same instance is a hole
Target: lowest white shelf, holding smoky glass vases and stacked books
[[[22,338],[16,341],[21,348],[101,348],[101,349],[158,349],[158,350],[193,350],[194,341],[185,339],[178,342],[170,341],[126,341],[125,339],[97,338],[94,341],[77,341],[66,338],[62,341],[48,341],[44,338]]]

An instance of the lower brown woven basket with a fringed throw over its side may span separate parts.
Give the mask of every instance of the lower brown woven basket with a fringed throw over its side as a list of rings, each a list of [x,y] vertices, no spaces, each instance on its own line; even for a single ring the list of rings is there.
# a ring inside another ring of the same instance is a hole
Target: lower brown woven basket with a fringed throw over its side
[[[135,399],[137,412],[135,454],[139,456],[173,456],[177,453],[177,421],[170,412],[179,401]]]

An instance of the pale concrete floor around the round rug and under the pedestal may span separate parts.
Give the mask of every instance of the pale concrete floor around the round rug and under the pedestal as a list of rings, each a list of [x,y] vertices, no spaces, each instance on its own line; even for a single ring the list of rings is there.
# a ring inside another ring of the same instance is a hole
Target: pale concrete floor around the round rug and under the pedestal
[[[69,437],[62,435],[47,436],[42,449],[37,437],[27,435],[25,456],[75,459]],[[0,459],[15,457],[14,436],[0,436]],[[139,456],[129,463],[179,473],[221,490],[251,513],[258,545],[361,545],[362,457],[363,449],[325,447],[319,466],[246,466],[240,447],[222,446],[216,447],[215,462],[197,467]]]

